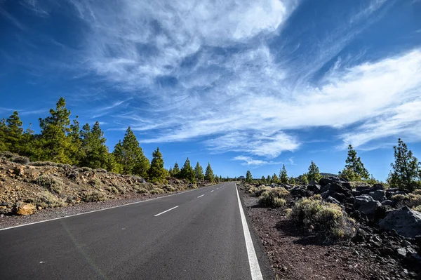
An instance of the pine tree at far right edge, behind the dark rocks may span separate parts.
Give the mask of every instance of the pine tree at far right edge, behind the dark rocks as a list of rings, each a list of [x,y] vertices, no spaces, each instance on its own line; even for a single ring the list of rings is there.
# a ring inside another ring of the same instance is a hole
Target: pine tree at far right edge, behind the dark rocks
[[[413,191],[420,187],[417,179],[420,178],[420,168],[413,152],[408,150],[406,144],[399,138],[398,146],[394,146],[394,163],[387,179],[391,187]]]

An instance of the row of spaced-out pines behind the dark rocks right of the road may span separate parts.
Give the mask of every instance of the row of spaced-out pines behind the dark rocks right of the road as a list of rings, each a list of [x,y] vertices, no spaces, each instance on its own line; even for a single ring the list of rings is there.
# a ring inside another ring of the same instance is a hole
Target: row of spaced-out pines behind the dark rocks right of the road
[[[391,164],[392,170],[389,172],[387,181],[388,187],[397,187],[399,189],[407,189],[413,191],[421,188],[421,162],[413,155],[413,152],[408,149],[407,145],[399,138],[398,145],[394,146],[394,162]],[[373,175],[370,175],[368,170],[364,167],[361,158],[357,156],[352,145],[348,147],[347,159],[345,160],[345,168],[338,172],[338,175],[349,181],[364,181],[373,185],[378,183]],[[298,178],[288,177],[285,165],[279,171],[279,176],[274,175],[262,176],[258,182],[263,184],[289,184],[289,185],[308,185],[309,183],[317,183],[323,176],[319,172],[319,167],[311,162],[308,172],[304,173]],[[253,182],[253,175],[250,171],[246,173],[246,181]]]

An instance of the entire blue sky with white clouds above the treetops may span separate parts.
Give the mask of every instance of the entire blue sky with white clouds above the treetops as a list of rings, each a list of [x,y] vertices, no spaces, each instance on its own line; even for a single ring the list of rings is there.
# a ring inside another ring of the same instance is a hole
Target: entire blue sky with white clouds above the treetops
[[[112,150],[131,126],[166,167],[255,178],[421,157],[421,1],[0,0],[0,116],[63,96]]]

